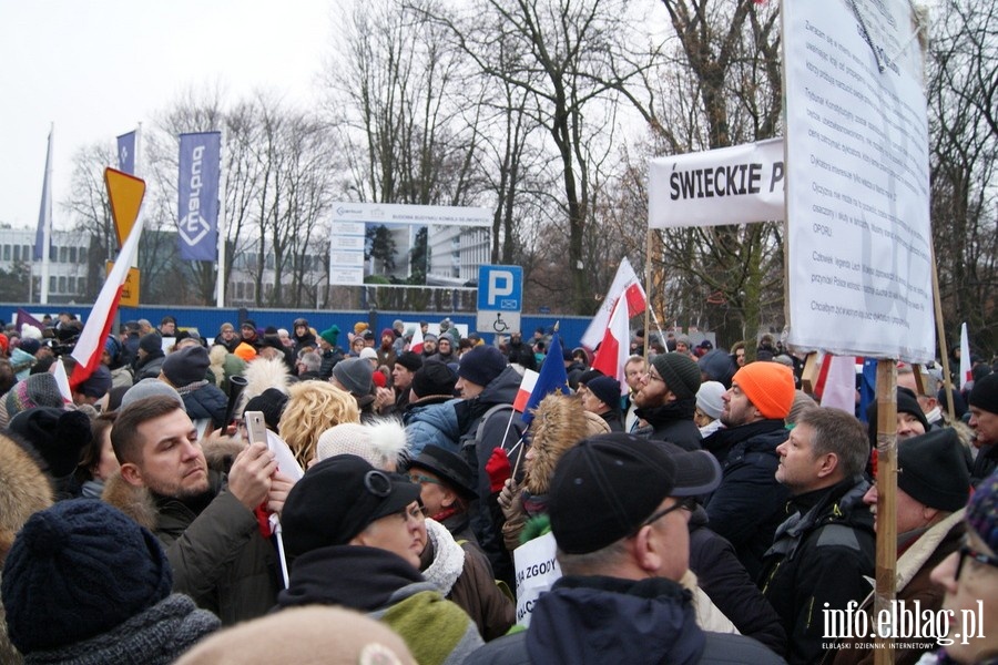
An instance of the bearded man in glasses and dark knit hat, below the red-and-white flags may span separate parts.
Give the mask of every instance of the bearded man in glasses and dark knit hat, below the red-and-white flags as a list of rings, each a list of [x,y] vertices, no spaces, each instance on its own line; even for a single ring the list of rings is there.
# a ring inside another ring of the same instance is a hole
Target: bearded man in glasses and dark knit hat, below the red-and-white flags
[[[639,437],[669,441],[685,450],[700,449],[700,428],[693,422],[700,368],[683,354],[658,354],[651,359],[634,395],[634,411],[646,424]]]

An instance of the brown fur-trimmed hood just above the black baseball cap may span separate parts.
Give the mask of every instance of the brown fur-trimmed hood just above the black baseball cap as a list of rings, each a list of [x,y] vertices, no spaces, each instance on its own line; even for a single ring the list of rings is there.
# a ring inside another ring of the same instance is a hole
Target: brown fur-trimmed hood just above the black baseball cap
[[[530,423],[533,459],[527,462],[523,487],[533,495],[547,494],[554,466],[566,451],[587,437],[610,433],[607,421],[585,411],[574,395],[549,395],[540,401]]]

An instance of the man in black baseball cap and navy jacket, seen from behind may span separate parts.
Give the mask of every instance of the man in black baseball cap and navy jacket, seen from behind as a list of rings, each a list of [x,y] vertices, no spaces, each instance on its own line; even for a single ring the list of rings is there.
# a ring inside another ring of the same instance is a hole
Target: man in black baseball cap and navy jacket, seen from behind
[[[679,583],[690,559],[683,509],[720,478],[710,453],[632,434],[572,447],[548,494],[563,576],[536,601],[526,632],[467,663],[781,663],[754,640],[702,631]]]

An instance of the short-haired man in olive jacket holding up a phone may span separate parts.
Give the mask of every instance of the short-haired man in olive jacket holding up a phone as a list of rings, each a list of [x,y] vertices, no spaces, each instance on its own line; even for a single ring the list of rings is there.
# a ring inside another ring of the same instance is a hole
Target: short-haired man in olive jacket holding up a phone
[[[111,443],[121,475],[109,482],[104,500],[156,534],[174,571],[174,591],[225,625],[266,614],[279,587],[277,555],[254,510],[266,502],[279,514],[293,484],[277,471],[266,441],[242,450],[226,478],[208,468],[176,400],[149,397],[121,411]]]

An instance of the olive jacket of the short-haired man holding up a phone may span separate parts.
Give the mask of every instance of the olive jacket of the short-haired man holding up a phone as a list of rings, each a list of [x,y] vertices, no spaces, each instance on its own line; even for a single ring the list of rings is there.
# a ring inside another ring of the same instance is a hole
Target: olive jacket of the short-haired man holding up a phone
[[[102,498],[156,534],[173,569],[175,592],[232,625],[274,606],[277,555],[261,535],[256,515],[224,488],[224,477],[213,469],[208,478],[206,494],[182,502],[115,474]]]

